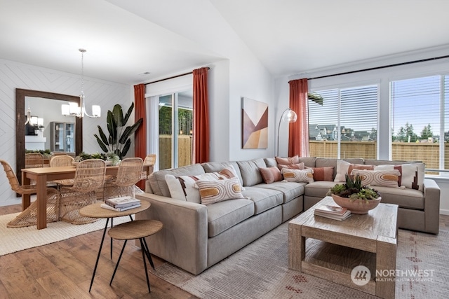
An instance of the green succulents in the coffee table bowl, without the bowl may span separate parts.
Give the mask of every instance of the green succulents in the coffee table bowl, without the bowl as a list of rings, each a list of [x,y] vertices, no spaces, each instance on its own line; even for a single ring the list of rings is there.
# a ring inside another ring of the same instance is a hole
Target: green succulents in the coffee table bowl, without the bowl
[[[355,200],[375,200],[380,197],[379,191],[362,185],[362,179],[356,175],[351,178],[348,174],[345,176],[346,183],[337,183],[335,186],[329,189],[329,195],[337,195],[340,197],[347,197],[349,201]]]

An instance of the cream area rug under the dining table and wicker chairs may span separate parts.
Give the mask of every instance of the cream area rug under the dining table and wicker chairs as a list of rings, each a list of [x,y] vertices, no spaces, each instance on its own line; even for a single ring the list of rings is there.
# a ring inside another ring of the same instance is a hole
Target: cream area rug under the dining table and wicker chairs
[[[51,222],[47,223],[47,228],[43,230],[38,230],[36,225],[25,228],[7,228],[6,223],[13,220],[18,214],[0,216],[0,256],[101,230],[105,228],[106,224],[106,219],[102,218],[88,224]],[[130,221],[128,216],[117,217],[114,218],[114,225],[127,221]]]

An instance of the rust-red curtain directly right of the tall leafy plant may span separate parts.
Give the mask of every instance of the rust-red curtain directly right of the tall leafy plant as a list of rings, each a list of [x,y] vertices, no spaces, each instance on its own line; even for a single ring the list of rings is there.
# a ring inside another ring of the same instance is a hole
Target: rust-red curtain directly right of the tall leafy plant
[[[147,156],[147,118],[145,113],[145,84],[134,85],[134,119],[143,118],[142,124],[134,133],[134,155],[145,160]],[[145,190],[145,181],[136,184]]]

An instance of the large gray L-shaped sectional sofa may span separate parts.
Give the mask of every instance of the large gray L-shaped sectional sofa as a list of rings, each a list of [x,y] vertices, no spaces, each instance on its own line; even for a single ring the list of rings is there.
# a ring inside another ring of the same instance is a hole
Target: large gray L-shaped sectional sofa
[[[404,161],[346,160],[354,164],[400,165]],[[337,159],[300,158],[306,167],[334,167]],[[232,165],[245,198],[203,205],[174,199],[166,175],[198,176],[217,173]],[[424,165],[417,163],[424,174]],[[156,219],[163,229],[148,238],[149,251],[168,262],[199,274],[223,258],[243,248],[281,223],[319,202],[335,181],[264,183],[260,168],[276,167],[275,158],[233,162],[206,162],[152,173],[146,192],[136,195],[151,207],[137,219]],[[382,202],[398,204],[399,228],[438,233],[440,189],[433,180],[422,179],[422,190],[375,187]],[[287,237],[287,236],[286,236]]]

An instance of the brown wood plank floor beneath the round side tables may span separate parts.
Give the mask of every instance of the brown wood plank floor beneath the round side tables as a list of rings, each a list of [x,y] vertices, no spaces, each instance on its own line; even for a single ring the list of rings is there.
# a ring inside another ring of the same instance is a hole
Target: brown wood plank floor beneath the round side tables
[[[21,211],[20,204],[0,207],[0,215]],[[102,230],[65,241],[0,256],[0,298],[196,298],[149,273],[148,293],[142,251],[133,241],[126,244],[112,286],[114,272],[123,242],[114,240],[113,258],[109,256],[109,238],[105,239],[102,256],[91,293],[88,292]],[[1,242],[1,237],[0,237]],[[152,256],[154,266],[163,260]],[[147,266],[150,267],[149,263]]]

